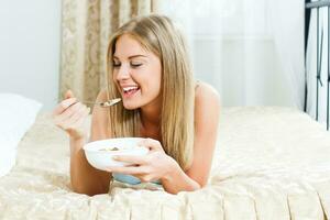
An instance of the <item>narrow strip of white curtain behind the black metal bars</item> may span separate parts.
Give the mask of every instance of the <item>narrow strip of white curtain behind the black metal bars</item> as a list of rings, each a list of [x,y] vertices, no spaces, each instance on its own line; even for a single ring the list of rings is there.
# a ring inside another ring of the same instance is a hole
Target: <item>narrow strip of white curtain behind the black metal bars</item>
[[[320,81],[318,100],[318,120],[326,125],[327,122],[327,78],[328,78],[328,9],[319,10],[319,64]],[[310,13],[310,25],[306,54],[307,72],[307,112],[316,118],[317,108],[317,11]]]

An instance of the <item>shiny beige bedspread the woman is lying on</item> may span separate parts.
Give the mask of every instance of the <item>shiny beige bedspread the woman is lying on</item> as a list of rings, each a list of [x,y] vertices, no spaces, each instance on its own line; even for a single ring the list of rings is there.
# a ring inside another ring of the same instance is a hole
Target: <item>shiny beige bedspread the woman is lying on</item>
[[[330,219],[330,133],[297,110],[222,109],[210,183],[194,193],[114,183],[109,194],[75,194],[68,150],[41,113],[0,178],[0,219]]]

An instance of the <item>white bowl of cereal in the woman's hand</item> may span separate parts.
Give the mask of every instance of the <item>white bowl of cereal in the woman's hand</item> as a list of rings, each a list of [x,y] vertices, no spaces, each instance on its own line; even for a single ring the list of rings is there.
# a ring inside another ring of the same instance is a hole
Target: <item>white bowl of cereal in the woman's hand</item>
[[[146,155],[148,148],[139,146],[138,143],[144,139],[141,138],[119,138],[94,141],[85,144],[85,151],[88,163],[97,169],[106,170],[109,166],[127,166],[130,163],[118,162],[112,160],[114,155]],[[116,151],[105,151],[113,148]]]

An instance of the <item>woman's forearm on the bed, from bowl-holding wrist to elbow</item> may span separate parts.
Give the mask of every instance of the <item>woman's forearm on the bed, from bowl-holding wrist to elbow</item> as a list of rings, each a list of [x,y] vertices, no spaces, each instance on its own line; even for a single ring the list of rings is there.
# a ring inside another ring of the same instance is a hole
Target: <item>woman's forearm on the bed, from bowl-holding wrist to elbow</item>
[[[190,178],[174,161],[169,172],[162,178],[164,189],[169,194],[179,191],[194,191],[200,189],[200,185]]]

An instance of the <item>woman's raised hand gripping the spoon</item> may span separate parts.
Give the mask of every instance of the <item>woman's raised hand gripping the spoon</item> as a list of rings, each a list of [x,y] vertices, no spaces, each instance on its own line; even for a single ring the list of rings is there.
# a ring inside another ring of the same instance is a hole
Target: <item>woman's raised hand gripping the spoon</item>
[[[84,123],[89,114],[90,109],[80,103],[74,94],[68,90],[65,99],[58,103],[53,111],[54,123],[67,132],[72,139],[78,140],[87,136]]]

